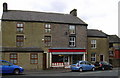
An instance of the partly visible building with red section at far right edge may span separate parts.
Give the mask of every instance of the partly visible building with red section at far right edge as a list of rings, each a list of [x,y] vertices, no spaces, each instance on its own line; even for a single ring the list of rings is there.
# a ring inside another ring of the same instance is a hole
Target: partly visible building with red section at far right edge
[[[120,38],[109,35],[109,61],[114,67],[120,67]]]

